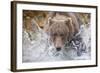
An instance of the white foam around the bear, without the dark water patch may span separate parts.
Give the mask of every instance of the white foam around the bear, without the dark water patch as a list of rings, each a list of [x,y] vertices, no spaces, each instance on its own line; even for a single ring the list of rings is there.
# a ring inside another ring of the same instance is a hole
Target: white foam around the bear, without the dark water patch
[[[90,45],[90,37],[88,34],[91,32],[90,28],[85,28],[82,30],[81,37],[83,38],[83,42],[86,44],[86,49],[88,49]],[[39,30],[36,38],[38,40],[30,41],[27,35],[27,32],[23,33],[23,50],[22,50],[22,61],[23,62],[42,62],[42,61],[64,61],[64,60],[84,60],[90,59],[90,50],[82,53],[81,55],[77,55],[77,50],[75,49],[63,49],[59,52],[55,50],[55,47],[48,42],[48,36],[42,31]],[[80,48],[81,49],[81,48]]]

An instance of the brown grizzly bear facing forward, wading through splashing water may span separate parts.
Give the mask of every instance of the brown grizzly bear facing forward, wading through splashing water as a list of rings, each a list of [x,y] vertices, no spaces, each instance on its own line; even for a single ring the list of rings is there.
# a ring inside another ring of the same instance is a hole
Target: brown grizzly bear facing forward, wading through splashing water
[[[77,16],[75,13],[55,12],[48,18],[44,31],[50,36],[49,40],[56,50],[60,51],[79,31]]]

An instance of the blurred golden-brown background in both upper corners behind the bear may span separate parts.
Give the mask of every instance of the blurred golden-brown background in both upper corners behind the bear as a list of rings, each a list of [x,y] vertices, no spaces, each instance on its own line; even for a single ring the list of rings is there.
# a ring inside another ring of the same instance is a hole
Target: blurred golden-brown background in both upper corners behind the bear
[[[77,13],[78,17],[82,21],[82,24],[88,26],[90,24],[90,14],[89,13]],[[32,11],[32,10],[23,10],[23,27],[26,30],[32,31],[32,19],[34,19],[40,28],[43,28],[50,12],[48,11]]]

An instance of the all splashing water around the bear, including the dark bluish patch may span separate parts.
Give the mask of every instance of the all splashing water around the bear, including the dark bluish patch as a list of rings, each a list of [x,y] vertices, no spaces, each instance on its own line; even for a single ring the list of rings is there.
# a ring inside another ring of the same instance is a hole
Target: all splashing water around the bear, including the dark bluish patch
[[[43,30],[33,34],[30,40],[28,33],[23,31],[23,62],[64,61],[64,60],[87,60],[91,57],[91,34],[90,27],[81,25],[80,32],[71,42],[61,50],[56,51],[48,36]]]

